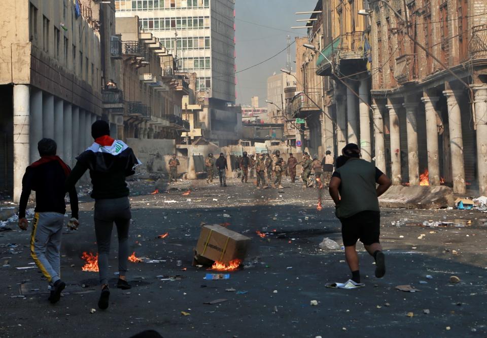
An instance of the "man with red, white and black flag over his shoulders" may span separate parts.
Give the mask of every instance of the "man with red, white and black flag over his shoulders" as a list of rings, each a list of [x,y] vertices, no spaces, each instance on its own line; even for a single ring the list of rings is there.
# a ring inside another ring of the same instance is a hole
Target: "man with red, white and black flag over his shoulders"
[[[120,289],[129,289],[125,279],[127,258],[129,256],[128,228],[130,224],[129,189],[125,177],[135,173],[137,160],[132,149],[120,140],[110,136],[110,126],[105,121],[96,121],[91,126],[91,136],[95,142],[77,157],[78,162],[66,181],[66,188],[71,189],[89,169],[95,200],[94,222],[96,244],[98,246],[98,269],[101,295],[98,301],[100,309],[107,309],[110,298],[108,287],[110,241],[113,223],[117,227],[118,237],[118,283]]]

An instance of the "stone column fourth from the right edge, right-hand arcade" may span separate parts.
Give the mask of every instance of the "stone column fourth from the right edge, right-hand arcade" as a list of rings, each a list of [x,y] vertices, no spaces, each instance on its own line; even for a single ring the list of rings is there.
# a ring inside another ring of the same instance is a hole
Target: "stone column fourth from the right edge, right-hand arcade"
[[[403,103],[406,109],[407,163],[409,165],[409,185],[420,184],[420,164],[418,159],[418,103]]]

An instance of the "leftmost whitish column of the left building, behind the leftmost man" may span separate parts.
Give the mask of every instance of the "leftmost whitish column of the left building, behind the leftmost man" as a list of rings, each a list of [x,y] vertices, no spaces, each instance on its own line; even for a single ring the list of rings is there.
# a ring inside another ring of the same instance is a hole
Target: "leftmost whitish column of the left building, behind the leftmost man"
[[[14,85],[14,202],[20,201],[22,177],[29,163],[30,91]]]

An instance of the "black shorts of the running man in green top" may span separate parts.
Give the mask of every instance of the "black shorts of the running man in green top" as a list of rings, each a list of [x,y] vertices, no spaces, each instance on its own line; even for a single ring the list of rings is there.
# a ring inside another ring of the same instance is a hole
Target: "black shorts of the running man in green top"
[[[344,246],[355,245],[359,239],[364,245],[380,243],[380,212],[361,211],[340,221]]]

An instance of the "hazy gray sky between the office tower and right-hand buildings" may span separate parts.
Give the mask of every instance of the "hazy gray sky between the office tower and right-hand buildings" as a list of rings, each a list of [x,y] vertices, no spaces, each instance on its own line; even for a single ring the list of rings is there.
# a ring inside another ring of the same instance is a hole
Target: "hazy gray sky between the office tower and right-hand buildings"
[[[317,0],[235,0],[237,72],[285,49],[287,35],[293,42],[295,36],[306,34],[306,29],[291,29],[291,26],[304,26],[305,22],[296,20],[307,19],[310,15],[295,13],[312,11],[316,4]],[[293,44],[293,70],[296,69],[295,56]],[[250,104],[252,96],[259,96],[260,105],[266,106],[267,78],[285,66],[286,51],[257,67],[237,73],[237,103]]]

